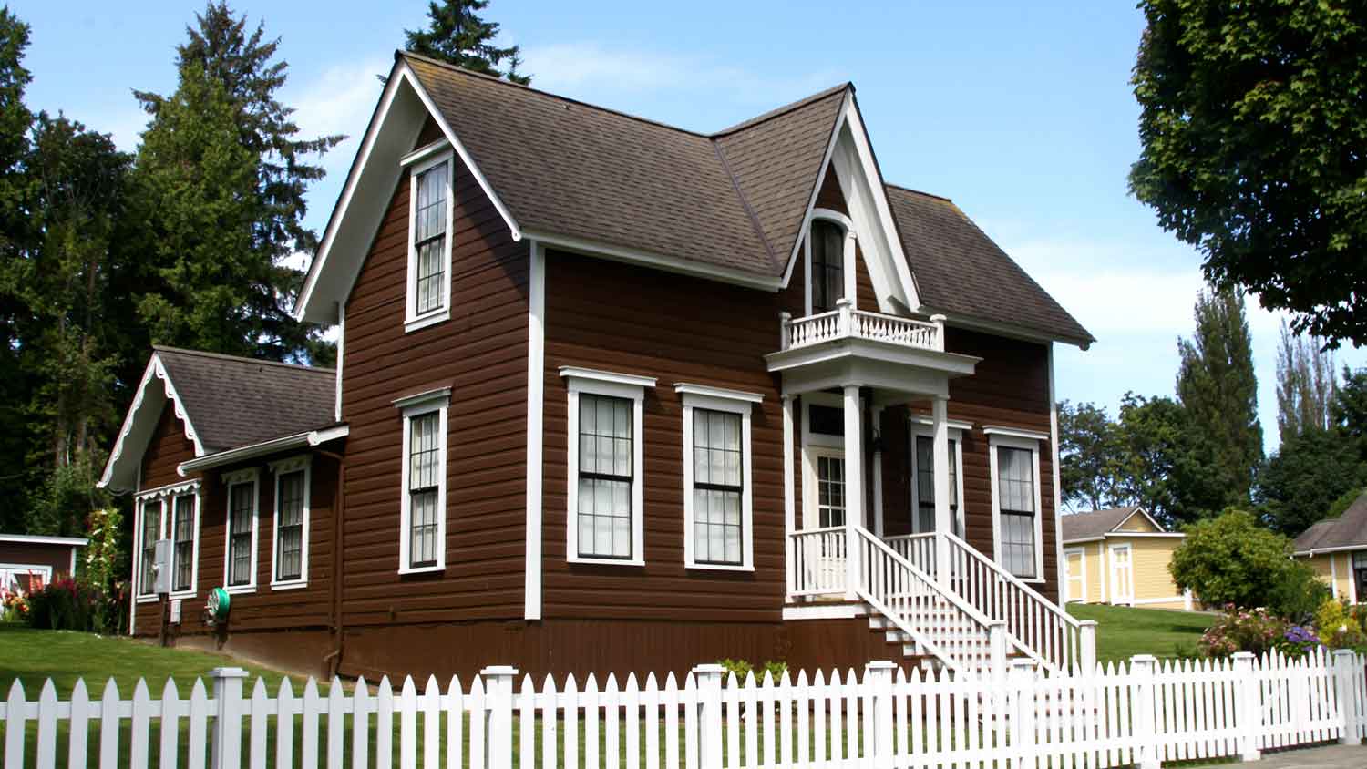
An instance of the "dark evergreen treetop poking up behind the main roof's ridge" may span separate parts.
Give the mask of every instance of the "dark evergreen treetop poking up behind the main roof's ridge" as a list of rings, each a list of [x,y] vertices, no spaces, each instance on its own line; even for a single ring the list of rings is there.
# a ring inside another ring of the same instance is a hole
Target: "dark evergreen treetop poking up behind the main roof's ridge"
[[[413,53],[465,67],[474,72],[507,78],[528,85],[530,75],[517,68],[522,64],[517,45],[499,46],[498,22],[485,22],[480,11],[488,0],[440,0],[428,3],[428,26],[422,30],[403,30],[405,48]],[[507,68],[500,68],[507,61]]]

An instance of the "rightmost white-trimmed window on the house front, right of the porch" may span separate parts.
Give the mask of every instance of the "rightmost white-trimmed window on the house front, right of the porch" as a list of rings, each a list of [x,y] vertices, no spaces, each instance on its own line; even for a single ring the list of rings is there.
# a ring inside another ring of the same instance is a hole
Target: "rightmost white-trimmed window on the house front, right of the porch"
[[[1044,578],[1039,440],[988,433],[997,563],[1021,578]]]

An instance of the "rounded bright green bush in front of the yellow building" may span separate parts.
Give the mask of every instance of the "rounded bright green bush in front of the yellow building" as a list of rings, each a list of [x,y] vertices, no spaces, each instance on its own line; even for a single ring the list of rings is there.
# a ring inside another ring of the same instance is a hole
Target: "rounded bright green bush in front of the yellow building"
[[[1258,526],[1252,514],[1228,509],[1187,526],[1167,564],[1173,582],[1213,605],[1264,606],[1289,570],[1290,540]]]

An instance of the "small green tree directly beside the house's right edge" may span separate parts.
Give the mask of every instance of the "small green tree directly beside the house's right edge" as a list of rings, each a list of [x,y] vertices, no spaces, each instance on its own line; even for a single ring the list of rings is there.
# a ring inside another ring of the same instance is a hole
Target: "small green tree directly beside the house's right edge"
[[[1120,445],[1106,410],[1095,403],[1059,403],[1058,448],[1064,504],[1088,509],[1110,505]]]

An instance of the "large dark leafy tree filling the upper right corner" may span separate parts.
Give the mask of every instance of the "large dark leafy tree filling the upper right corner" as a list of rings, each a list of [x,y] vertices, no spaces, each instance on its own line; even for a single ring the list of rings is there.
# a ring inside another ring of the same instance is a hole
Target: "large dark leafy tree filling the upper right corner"
[[[1292,328],[1367,341],[1367,7],[1141,0],[1132,193]]]

